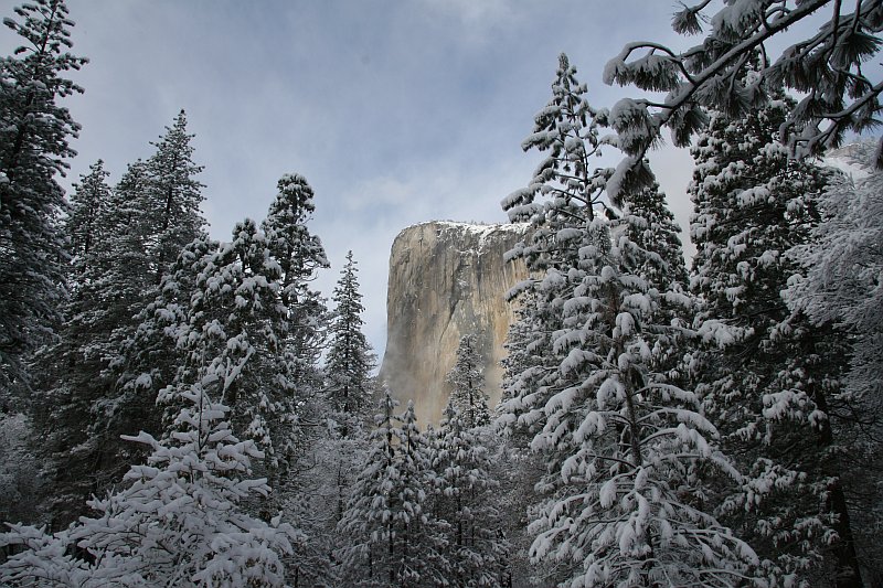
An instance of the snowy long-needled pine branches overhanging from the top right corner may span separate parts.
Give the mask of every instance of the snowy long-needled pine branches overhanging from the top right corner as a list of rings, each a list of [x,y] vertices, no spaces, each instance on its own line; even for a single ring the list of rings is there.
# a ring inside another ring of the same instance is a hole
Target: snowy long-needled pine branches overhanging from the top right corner
[[[684,35],[704,33],[701,43],[683,51],[651,41],[628,43],[605,68],[607,84],[668,93],[662,98],[624,98],[614,106],[611,125],[628,154],[621,174],[635,170],[661,141],[663,127],[671,130],[674,145],[687,147],[708,122],[706,109],[741,116],[768,104],[770,87],[784,85],[804,96],[780,128],[784,142],[798,154],[818,154],[839,146],[848,131],[873,127],[883,83],[868,70],[880,52],[882,23],[877,0],[683,4],[672,28]],[[747,77],[758,53],[759,75]],[[880,153],[877,165],[883,162]],[[620,185],[611,184],[613,195]]]

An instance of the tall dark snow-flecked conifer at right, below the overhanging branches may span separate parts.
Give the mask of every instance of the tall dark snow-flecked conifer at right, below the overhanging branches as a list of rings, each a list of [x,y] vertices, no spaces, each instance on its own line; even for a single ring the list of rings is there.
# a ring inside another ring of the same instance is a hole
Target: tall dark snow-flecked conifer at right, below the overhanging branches
[[[746,474],[724,490],[723,518],[788,581],[830,575],[836,586],[861,586],[839,475],[847,448],[836,438],[848,350],[842,334],[812,327],[780,295],[799,271],[784,254],[809,238],[827,173],[776,142],[792,103],[770,94],[778,99],[747,116],[712,115],[693,149],[698,322],[730,330],[717,331],[723,350],[696,355],[696,389]]]

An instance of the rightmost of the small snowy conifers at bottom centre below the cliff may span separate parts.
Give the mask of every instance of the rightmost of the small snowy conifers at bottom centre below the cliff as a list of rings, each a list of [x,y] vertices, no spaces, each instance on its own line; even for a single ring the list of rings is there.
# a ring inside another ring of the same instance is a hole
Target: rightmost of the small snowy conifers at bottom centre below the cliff
[[[510,546],[501,534],[499,483],[487,445],[492,431],[469,424],[448,402],[433,456],[437,475],[434,512],[449,525],[449,586],[506,586]]]

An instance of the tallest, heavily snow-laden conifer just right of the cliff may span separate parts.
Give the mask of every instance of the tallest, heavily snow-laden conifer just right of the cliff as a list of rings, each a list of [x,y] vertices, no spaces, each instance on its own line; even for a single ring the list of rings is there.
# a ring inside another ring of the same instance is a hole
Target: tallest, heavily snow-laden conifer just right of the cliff
[[[514,385],[501,417],[531,431],[549,464],[532,558],[571,587],[762,584],[752,548],[704,509],[706,475],[741,477],[715,448],[696,395],[667,370],[689,331],[661,309],[689,299],[657,281],[680,271],[638,235],[670,225],[649,224],[647,201],[639,214],[629,193],[621,207],[600,200],[613,171],[589,171],[587,156],[606,113],[588,107],[575,73],[562,55],[553,98],[523,143],[550,154],[503,201],[511,220],[538,228],[515,255],[539,274],[521,288],[544,301],[542,316],[525,313],[539,328],[522,332],[544,359],[525,362],[526,384]]]

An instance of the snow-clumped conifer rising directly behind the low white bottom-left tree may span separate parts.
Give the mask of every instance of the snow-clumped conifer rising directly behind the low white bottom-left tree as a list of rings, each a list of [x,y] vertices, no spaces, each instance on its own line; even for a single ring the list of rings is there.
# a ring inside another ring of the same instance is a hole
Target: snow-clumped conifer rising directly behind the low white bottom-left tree
[[[180,392],[193,386],[204,370],[227,370],[211,393],[231,407],[231,421],[241,435],[263,448],[263,472],[278,485],[294,451],[298,404],[279,264],[249,220],[234,227],[230,243],[198,263],[200,272],[184,295],[185,322],[177,325],[184,361],[158,400],[171,403],[174,410]]]

